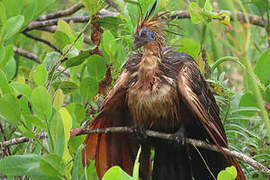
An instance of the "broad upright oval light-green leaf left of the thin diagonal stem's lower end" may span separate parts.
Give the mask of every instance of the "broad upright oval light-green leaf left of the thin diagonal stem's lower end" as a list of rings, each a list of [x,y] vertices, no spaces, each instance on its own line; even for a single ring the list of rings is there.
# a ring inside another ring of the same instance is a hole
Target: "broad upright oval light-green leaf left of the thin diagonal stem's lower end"
[[[30,99],[34,111],[48,120],[52,113],[52,98],[47,89],[42,86],[35,88]]]

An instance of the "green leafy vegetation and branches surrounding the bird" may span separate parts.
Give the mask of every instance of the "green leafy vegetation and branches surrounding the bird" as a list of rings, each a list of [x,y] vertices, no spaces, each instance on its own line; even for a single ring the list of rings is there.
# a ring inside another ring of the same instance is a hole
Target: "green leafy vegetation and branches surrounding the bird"
[[[269,167],[270,2],[192,2],[160,0],[169,31],[183,35],[168,33],[169,45],[192,55],[213,87],[230,147]],[[131,52],[137,3],[145,11],[152,1],[82,3],[0,0],[2,177],[97,179],[94,163],[81,164],[84,137],[69,132],[97,113]],[[247,179],[267,179],[241,166]]]

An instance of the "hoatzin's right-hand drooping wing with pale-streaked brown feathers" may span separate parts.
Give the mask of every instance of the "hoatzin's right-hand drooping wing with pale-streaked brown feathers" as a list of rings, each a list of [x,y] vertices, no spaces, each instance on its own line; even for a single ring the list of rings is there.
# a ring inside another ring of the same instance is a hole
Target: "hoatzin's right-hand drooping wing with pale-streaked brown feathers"
[[[219,108],[199,69],[193,61],[183,59],[178,61],[178,67],[177,84],[181,98],[200,120],[224,157],[237,168],[237,180],[245,180],[245,176],[236,159],[226,155],[221,149],[221,147],[228,148],[228,143],[219,117]]]

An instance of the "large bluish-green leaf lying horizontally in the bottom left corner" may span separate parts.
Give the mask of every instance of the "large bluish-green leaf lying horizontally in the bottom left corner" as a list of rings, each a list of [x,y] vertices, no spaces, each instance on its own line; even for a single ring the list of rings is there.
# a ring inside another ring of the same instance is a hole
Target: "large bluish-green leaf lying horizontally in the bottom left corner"
[[[32,175],[39,167],[41,156],[36,154],[13,155],[0,160],[0,174],[5,176]]]

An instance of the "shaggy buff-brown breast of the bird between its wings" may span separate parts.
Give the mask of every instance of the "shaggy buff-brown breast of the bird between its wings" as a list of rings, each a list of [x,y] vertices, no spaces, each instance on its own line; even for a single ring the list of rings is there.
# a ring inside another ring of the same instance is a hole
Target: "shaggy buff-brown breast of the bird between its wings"
[[[179,101],[174,83],[153,77],[152,84],[129,88],[128,107],[136,125],[146,129],[174,131],[178,126]],[[172,80],[171,80],[172,81]]]

